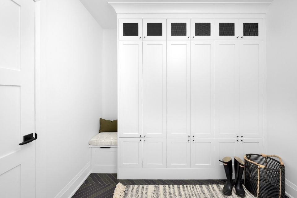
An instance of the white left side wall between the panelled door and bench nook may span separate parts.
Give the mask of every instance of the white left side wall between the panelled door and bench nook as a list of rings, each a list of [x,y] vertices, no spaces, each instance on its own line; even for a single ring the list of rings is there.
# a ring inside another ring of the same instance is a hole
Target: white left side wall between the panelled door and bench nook
[[[91,170],[88,140],[102,116],[102,28],[79,0],[39,3],[37,197],[66,198]]]

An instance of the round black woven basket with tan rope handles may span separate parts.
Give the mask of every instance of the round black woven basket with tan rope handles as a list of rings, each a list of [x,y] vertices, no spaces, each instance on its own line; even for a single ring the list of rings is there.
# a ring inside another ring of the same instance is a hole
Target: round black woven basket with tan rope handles
[[[286,197],[285,166],[279,156],[246,154],[244,163],[244,186],[249,192],[260,198]]]

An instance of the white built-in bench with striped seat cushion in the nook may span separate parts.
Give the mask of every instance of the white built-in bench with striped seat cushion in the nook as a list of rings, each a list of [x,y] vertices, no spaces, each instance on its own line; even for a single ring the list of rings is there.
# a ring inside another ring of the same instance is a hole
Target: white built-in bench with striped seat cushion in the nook
[[[117,173],[118,132],[101,132],[89,141],[91,173]]]

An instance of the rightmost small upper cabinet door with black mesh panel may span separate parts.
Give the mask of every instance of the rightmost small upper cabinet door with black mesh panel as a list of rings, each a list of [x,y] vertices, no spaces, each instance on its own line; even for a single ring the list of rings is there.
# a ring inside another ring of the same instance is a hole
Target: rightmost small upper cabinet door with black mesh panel
[[[239,19],[239,40],[263,40],[263,19]]]

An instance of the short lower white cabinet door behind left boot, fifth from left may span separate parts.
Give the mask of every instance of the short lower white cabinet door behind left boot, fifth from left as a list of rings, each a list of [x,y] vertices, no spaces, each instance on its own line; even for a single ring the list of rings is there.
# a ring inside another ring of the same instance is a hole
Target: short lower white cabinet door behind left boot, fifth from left
[[[234,156],[239,155],[239,138],[216,138],[216,168],[224,168],[222,160],[231,157],[234,166]]]

